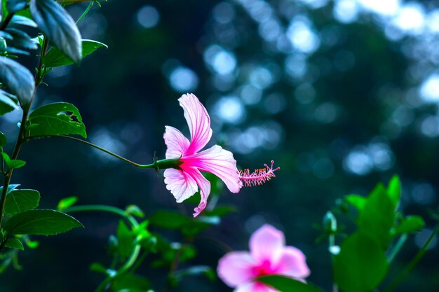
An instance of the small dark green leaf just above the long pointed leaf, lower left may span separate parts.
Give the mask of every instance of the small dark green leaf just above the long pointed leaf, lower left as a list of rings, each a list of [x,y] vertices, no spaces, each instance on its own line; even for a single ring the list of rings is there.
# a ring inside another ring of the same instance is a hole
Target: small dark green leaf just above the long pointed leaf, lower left
[[[14,216],[38,207],[40,193],[37,190],[13,190],[6,196],[5,213]]]

